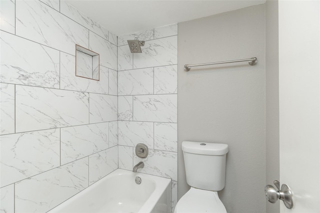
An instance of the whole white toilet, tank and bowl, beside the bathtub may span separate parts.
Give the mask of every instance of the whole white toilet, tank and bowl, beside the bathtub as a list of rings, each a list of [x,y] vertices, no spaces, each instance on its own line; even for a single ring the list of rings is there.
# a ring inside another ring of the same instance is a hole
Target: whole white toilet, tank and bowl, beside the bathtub
[[[217,192],[224,188],[228,145],[183,141],[182,152],[191,188],[177,202],[174,213],[226,213]]]

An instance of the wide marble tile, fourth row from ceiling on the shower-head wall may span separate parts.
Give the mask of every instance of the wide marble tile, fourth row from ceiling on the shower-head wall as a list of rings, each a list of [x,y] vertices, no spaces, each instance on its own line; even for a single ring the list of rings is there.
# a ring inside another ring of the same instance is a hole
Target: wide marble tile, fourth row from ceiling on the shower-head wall
[[[176,94],[133,96],[133,121],[176,123],[176,107]]]

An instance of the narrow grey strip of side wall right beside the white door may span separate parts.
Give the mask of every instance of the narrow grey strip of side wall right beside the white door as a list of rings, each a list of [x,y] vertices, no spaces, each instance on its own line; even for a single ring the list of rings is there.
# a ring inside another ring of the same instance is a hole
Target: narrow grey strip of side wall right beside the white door
[[[279,51],[278,1],[265,3],[265,179],[279,180]],[[280,202],[266,202],[267,213],[278,213]]]

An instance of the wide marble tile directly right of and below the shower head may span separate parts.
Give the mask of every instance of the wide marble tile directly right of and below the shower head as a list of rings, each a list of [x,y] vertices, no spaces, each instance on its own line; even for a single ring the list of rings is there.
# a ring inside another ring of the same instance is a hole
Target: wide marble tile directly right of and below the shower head
[[[177,64],[177,36],[146,41],[142,53],[133,55],[133,68]]]

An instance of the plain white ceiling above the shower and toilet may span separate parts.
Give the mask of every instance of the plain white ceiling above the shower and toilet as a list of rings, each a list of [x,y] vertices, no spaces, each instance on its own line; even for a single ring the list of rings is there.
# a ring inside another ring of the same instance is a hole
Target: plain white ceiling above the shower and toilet
[[[68,0],[116,35],[264,3],[265,0]]]

